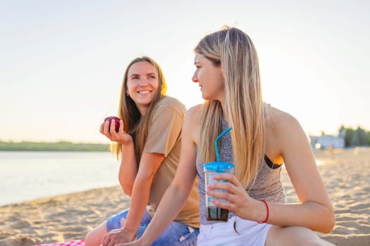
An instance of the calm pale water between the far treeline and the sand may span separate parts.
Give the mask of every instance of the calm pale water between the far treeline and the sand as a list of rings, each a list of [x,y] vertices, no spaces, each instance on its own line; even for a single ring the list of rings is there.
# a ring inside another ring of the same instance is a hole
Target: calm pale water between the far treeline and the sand
[[[105,152],[0,151],[0,206],[116,186],[118,169]]]

